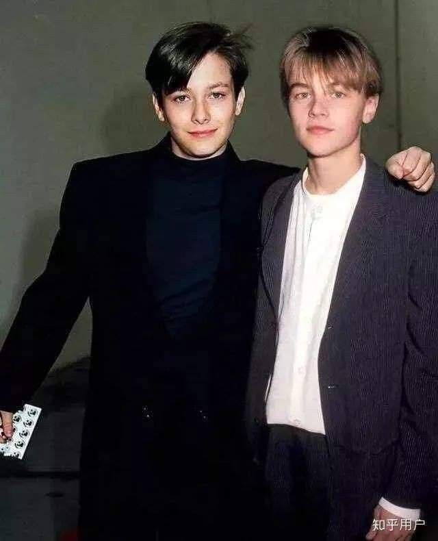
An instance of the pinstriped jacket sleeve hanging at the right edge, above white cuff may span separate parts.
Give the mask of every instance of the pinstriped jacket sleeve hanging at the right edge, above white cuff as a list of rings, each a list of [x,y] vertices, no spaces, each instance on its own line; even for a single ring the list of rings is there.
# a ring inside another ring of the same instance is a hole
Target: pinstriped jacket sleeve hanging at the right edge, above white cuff
[[[417,244],[409,273],[399,439],[384,494],[400,507],[422,507],[437,485],[438,222],[433,219]]]

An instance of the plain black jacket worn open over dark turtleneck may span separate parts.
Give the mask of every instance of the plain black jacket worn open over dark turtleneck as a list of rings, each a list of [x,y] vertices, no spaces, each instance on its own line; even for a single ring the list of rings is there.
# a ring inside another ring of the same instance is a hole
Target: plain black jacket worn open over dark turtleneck
[[[47,267],[25,292],[0,352],[0,409],[14,411],[31,399],[90,299],[92,362],[81,462],[90,492],[99,491],[91,472],[100,468],[105,479],[120,464],[118,453],[127,457],[123,467],[131,468],[129,455],[138,452],[136,431],[149,419],[150,402],[163,392],[151,369],[167,334],[150,283],[146,207],[149,171],[166,144],[168,138],[150,150],[73,166]],[[224,401],[239,392],[244,397],[261,197],[272,181],[290,171],[256,160],[242,162],[231,150],[221,203],[216,324],[209,340],[216,368],[229,379]],[[98,423],[103,406],[108,421]]]

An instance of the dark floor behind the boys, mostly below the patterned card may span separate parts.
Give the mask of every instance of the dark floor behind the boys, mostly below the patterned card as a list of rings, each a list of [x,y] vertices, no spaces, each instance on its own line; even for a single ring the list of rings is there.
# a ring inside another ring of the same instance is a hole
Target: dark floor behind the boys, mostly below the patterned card
[[[22,461],[0,459],[0,541],[59,541],[77,520],[79,444],[88,361],[47,377],[42,414]],[[417,541],[438,541],[438,509]]]

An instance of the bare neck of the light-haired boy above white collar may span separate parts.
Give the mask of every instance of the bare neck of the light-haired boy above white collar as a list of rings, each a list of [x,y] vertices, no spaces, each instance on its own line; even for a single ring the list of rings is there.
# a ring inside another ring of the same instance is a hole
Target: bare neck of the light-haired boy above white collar
[[[311,194],[333,194],[359,171],[362,158],[360,147],[354,152],[340,152],[324,157],[311,157],[307,167],[306,188]]]

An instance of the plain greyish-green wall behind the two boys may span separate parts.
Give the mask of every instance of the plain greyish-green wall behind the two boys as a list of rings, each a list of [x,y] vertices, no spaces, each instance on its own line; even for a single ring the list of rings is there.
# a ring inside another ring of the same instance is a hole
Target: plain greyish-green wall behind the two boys
[[[289,35],[311,23],[357,29],[381,58],[385,95],[366,151],[383,163],[399,144],[436,148],[434,0],[0,0],[0,343],[44,268],[73,162],[143,149],[164,135],[144,63],[163,32],[195,20],[251,25],[252,72],[233,134],[241,158],[303,164],[279,98],[278,63]],[[57,366],[89,344],[86,308]]]

